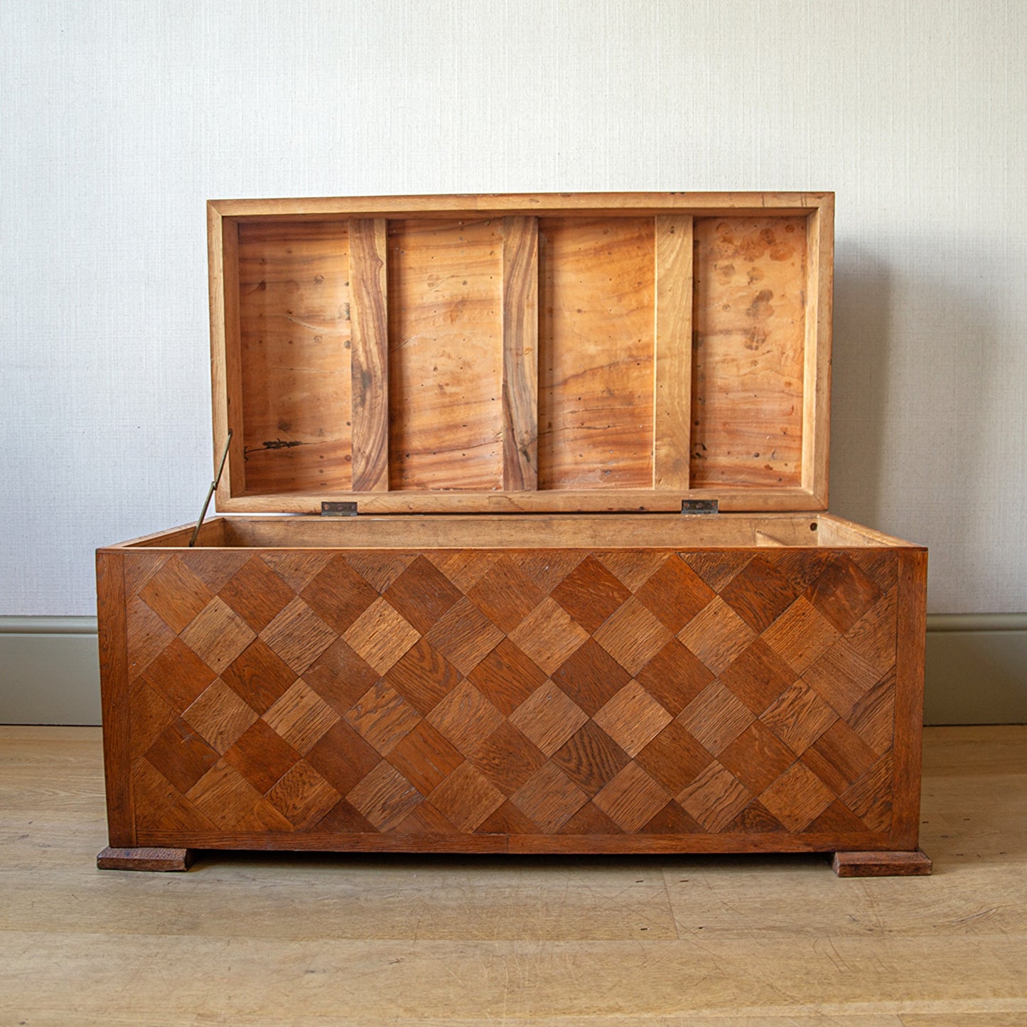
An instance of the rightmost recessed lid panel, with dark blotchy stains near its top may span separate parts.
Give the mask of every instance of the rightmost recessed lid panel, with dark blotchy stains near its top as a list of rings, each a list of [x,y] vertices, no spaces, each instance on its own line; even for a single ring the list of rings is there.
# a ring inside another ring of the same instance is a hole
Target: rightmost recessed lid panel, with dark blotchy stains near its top
[[[696,218],[691,481],[798,485],[806,219]]]

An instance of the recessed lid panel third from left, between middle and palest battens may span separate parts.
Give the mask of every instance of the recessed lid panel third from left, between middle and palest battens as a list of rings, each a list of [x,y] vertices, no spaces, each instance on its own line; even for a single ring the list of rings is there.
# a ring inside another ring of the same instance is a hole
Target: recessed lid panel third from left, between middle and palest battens
[[[654,231],[539,221],[539,488],[652,487]]]

